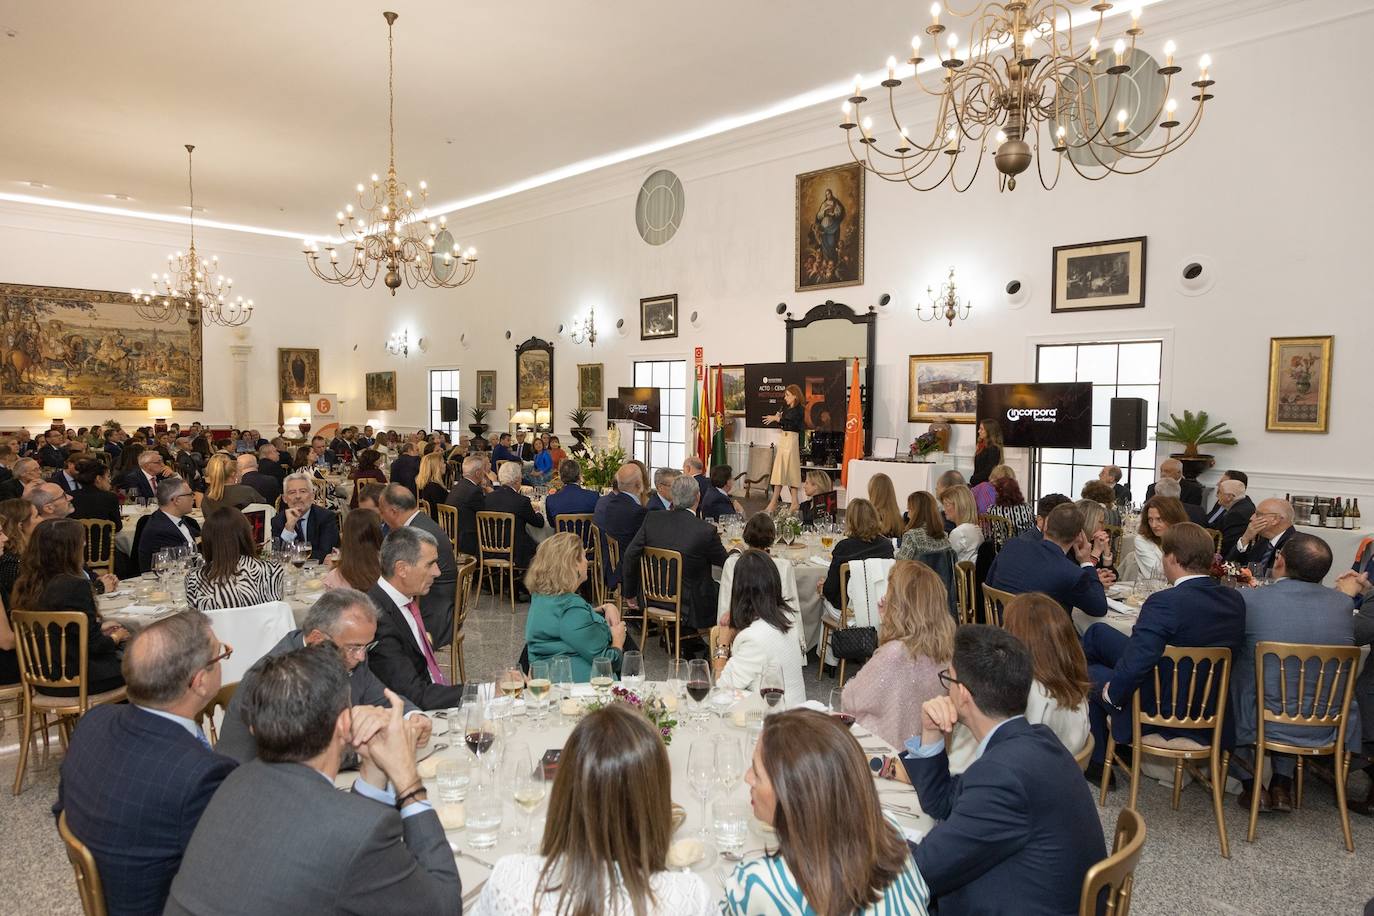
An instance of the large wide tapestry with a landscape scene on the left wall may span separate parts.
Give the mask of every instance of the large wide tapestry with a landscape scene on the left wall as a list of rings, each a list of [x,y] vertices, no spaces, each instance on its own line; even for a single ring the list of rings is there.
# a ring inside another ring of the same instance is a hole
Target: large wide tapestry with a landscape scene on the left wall
[[[71,398],[76,411],[205,407],[201,324],[139,314],[128,293],[0,283],[0,408]]]

